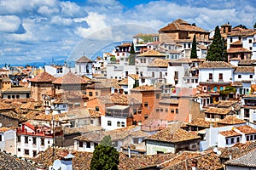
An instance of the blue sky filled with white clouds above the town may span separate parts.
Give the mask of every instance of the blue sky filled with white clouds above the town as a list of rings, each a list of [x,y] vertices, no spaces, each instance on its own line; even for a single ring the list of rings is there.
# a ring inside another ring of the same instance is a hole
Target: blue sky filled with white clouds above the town
[[[91,57],[178,18],[252,28],[255,11],[256,0],[0,0],[0,64]]]

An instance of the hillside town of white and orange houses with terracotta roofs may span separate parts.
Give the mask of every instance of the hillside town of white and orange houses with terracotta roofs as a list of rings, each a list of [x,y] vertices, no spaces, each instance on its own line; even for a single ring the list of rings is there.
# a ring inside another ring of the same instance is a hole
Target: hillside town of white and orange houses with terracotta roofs
[[[183,19],[74,67],[4,65],[0,168],[87,170],[110,137],[118,169],[255,169],[255,66],[255,29]]]

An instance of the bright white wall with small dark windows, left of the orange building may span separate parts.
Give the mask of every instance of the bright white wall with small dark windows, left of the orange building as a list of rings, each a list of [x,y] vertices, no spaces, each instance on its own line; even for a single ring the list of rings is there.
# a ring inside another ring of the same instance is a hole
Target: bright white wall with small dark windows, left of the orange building
[[[126,127],[126,117],[101,116],[102,127],[106,130],[114,130]]]

